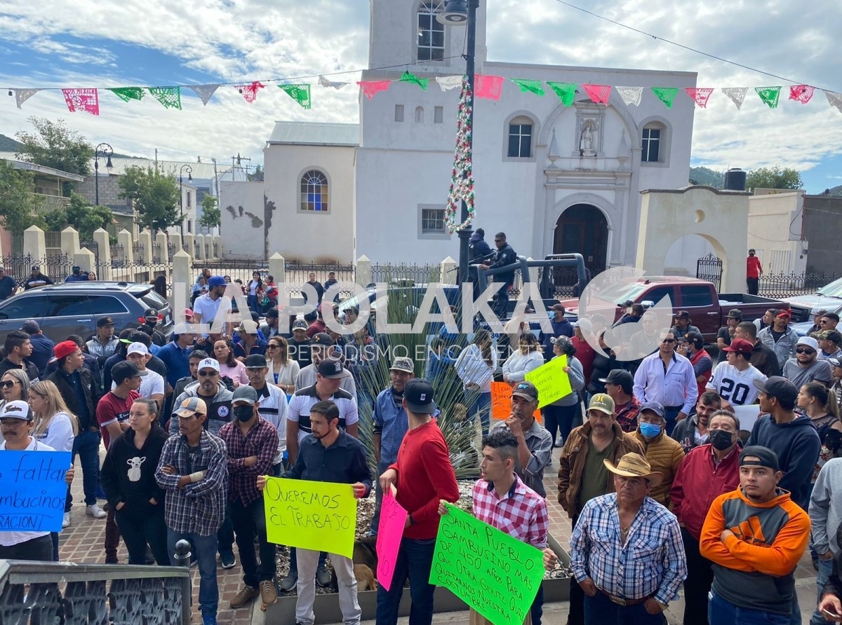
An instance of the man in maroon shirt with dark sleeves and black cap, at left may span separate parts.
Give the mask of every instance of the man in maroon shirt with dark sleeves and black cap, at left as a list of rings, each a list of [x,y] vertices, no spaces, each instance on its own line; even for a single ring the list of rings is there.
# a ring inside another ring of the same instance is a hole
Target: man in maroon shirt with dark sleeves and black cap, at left
[[[111,439],[129,429],[131,405],[141,396],[141,372],[137,365],[124,360],[111,368],[111,379],[115,388],[103,395],[97,404],[97,421],[103,433],[103,442],[108,449]],[[117,564],[117,548],[120,546],[120,529],[114,520],[114,508],[109,507],[105,517],[105,564]]]

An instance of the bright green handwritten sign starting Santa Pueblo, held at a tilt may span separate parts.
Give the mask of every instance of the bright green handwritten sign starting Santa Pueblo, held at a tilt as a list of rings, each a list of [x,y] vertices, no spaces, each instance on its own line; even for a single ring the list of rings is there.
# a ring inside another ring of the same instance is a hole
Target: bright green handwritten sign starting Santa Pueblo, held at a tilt
[[[450,589],[495,625],[523,625],[543,578],[540,549],[447,504],[430,584]]]

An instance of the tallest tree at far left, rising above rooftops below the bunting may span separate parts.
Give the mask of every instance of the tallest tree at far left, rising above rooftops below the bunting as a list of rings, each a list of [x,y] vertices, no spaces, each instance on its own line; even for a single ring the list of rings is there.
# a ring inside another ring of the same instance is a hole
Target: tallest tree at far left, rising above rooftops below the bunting
[[[43,117],[30,117],[29,123],[35,126],[35,133],[20,130],[15,134],[21,144],[15,156],[62,172],[90,175],[93,146],[83,135],[67,128],[61,119],[53,122]]]

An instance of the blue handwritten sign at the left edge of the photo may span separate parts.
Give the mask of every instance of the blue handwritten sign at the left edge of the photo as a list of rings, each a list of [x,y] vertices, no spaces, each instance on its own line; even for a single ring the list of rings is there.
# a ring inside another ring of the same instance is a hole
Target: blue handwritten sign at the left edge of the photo
[[[70,452],[0,451],[0,532],[61,532]]]

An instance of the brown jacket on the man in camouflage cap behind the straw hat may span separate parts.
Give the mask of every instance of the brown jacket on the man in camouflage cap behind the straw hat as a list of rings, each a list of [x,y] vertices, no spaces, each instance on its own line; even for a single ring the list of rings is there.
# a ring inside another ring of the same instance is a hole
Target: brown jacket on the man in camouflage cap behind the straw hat
[[[640,455],[645,455],[643,446],[637,442],[631,434],[626,434],[622,431],[620,424],[613,422],[614,441],[610,444],[612,446],[610,453],[610,461],[617,463],[617,461],[626,455],[626,453],[635,452]],[[560,467],[558,469],[558,503],[562,505],[568,516],[572,519],[577,518],[582,507],[578,505],[578,491],[582,485],[582,471],[584,471],[584,463],[588,457],[589,438],[591,426],[588,421],[585,421],[584,426],[579,426],[570,432],[568,440],[564,443],[562,448],[562,455],[558,458]],[[605,484],[605,493],[614,492],[614,474],[608,474],[608,480]]]

